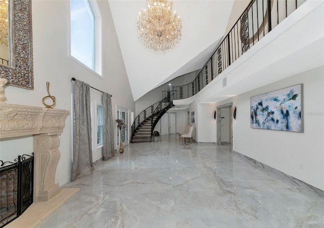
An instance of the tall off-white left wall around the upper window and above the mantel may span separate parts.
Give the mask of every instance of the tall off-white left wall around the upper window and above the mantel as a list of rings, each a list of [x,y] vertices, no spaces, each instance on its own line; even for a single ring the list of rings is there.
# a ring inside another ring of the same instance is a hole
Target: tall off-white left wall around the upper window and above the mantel
[[[112,114],[116,105],[135,110],[123,57],[110,15],[108,1],[98,1],[102,16],[103,79],[68,58],[69,5],[65,1],[32,1],[32,35],[34,90],[5,86],[7,103],[44,107],[42,98],[47,96],[46,82],[50,82],[51,95],[56,97],[56,109],[71,112],[71,77],[112,94]],[[55,182],[60,186],[71,177],[71,115],[65,121],[60,136],[60,160]],[[116,129],[114,129],[116,131]],[[32,137],[1,140],[0,159],[12,160],[19,154],[30,154]],[[115,145],[116,148],[116,145]]]

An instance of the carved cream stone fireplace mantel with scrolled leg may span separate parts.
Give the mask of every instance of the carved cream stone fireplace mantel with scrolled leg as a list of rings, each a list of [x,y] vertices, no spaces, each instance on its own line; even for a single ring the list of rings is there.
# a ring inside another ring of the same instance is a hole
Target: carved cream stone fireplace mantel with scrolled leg
[[[59,135],[68,110],[0,103],[0,139],[33,135],[34,202],[60,193],[55,172],[60,158]]]

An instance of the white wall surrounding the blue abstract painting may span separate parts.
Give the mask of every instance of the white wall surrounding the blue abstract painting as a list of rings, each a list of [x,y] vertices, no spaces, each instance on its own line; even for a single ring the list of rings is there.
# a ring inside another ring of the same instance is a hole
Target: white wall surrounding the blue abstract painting
[[[233,150],[324,190],[324,67],[299,73],[220,102],[237,107]],[[304,132],[253,129],[250,98],[303,83]]]

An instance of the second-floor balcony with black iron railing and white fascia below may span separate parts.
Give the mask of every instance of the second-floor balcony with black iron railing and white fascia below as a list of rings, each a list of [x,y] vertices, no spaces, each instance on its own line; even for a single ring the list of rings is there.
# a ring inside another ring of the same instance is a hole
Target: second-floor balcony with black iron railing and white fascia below
[[[173,86],[174,104],[222,101],[323,65],[323,5],[252,1],[194,80]]]

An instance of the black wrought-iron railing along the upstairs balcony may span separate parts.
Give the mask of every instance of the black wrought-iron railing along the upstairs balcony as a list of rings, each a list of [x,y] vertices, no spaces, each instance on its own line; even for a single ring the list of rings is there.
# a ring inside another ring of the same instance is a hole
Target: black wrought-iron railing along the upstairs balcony
[[[196,78],[173,86],[174,100],[196,95],[306,0],[252,0]]]

